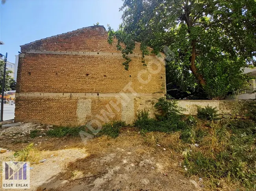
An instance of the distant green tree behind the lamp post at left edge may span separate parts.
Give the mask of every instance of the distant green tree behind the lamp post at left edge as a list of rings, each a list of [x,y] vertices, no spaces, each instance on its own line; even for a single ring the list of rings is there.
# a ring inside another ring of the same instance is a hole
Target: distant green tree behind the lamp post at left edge
[[[16,82],[9,75],[11,73],[12,73],[12,71],[6,70],[6,78],[5,78],[4,91],[15,89]],[[4,78],[4,62],[0,61],[0,89],[1,89],[1,92],[2,92],[3,78]]]

